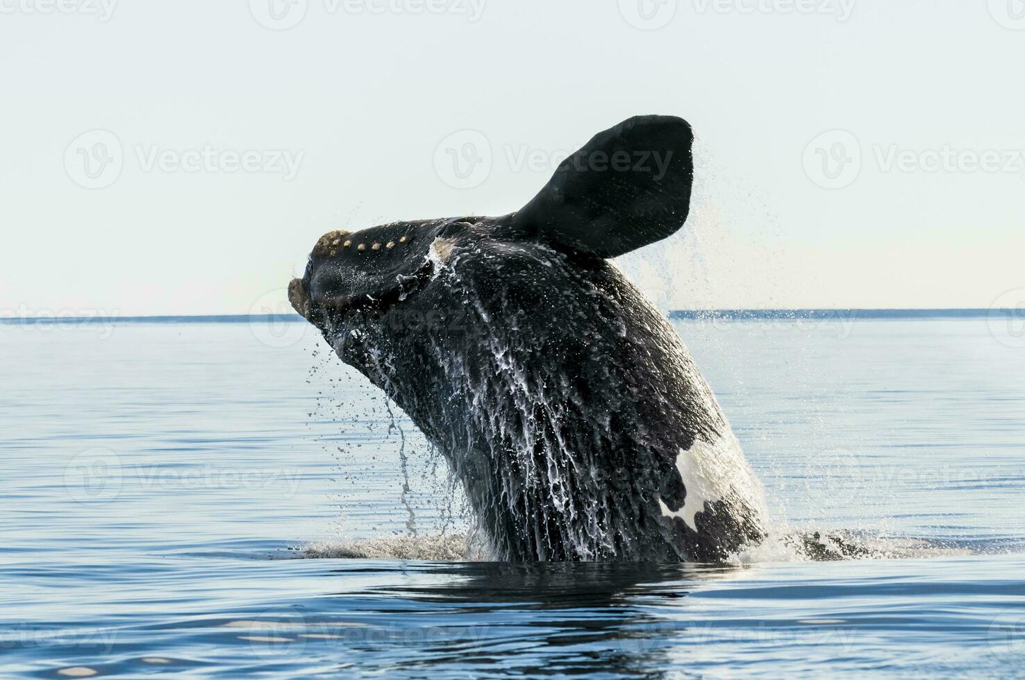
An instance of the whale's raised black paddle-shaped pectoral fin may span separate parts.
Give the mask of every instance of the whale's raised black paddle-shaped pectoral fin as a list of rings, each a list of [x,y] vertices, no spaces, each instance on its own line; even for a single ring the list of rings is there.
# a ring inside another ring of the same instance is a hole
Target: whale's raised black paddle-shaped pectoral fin
[[[671,116],[599,133],[512,216],[516,237],[616,257],[674,233],[690,209],[693,141],[687,121]]]

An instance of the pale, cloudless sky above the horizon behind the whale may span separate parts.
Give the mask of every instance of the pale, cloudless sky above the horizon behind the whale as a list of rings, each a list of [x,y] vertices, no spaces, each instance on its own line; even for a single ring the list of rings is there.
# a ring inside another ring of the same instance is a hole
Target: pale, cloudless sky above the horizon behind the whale
[[[266,311],[324,231],[516,210],[638,114],[698,136],[624,263],[665,304],[988,307],[1023,62],[1021,0],[0,0],[0,310]]]

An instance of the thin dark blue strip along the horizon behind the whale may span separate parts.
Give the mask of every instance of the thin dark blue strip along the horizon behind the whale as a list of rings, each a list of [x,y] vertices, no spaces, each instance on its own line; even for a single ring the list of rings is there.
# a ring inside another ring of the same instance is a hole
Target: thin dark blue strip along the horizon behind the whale
[[[942,318],[1022,318],[1025,310],[996,309],[674,309],[669,318],[676,321],[819,321],[819,320],[942,320]],[[3,316],[0,326],[25,324],[250,324],[250,323],[300,323],[298,314],[202,314],[119,316],[97,313],[94,315],[39,315]]]

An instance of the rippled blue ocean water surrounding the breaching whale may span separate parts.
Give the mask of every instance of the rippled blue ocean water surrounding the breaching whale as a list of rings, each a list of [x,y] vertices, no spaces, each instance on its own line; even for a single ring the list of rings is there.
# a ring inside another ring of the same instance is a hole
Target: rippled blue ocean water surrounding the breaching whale
[[[475,561],[303,324],[0,325],[0,676],[1021,677],[1013,322],[675,322],[777,534],[872,553],[721,565]]]

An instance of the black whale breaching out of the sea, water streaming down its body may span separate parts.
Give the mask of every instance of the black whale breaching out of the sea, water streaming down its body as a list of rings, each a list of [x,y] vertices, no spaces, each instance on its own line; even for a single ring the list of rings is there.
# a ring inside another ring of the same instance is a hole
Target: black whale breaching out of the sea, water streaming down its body
[[[496,558],[719,561],[765,536],[711,390],[607,259],[683,225],[692,142],[628,120],[516,213],[334,231],[291,283],[443,452]]]

